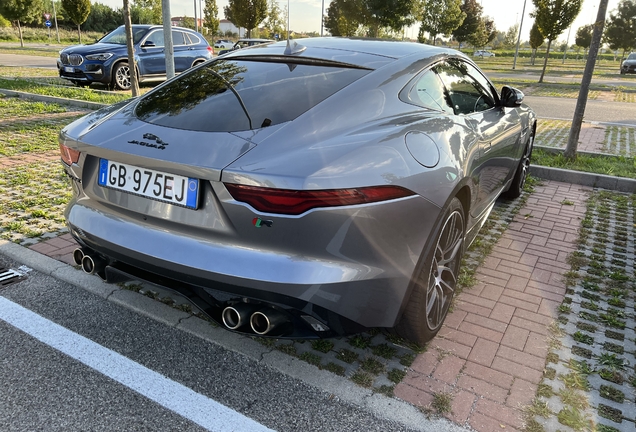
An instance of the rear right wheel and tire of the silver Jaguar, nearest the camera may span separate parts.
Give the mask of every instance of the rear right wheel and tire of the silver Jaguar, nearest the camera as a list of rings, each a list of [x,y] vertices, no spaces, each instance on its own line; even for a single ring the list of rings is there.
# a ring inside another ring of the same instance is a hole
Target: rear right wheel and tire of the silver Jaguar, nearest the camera
[[[451,305],[464,254],[466,223],[464,209],[453,198],[444,211],[430,250],[425,252],[421,269],[413,275],[413,291],[395,332],[424,345],[442,327]]]

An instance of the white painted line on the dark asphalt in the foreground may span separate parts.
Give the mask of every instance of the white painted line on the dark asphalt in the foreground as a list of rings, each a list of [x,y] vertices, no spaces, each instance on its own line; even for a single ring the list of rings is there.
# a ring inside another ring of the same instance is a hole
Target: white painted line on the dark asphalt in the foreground
[[[271,431],[249,417],[1,296],[0,319],[210,431]]]

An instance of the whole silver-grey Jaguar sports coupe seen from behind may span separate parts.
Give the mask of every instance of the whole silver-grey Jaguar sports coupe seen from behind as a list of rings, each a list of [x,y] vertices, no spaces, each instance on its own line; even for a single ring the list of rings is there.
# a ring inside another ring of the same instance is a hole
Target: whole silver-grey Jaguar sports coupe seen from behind
[[[238,50],[62,130],[74,260],[232,331],[424,343],[495,200],[521,193],[535,131],[523,93],[451,49]]]

